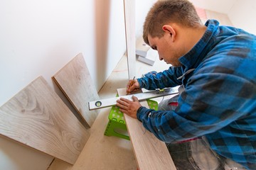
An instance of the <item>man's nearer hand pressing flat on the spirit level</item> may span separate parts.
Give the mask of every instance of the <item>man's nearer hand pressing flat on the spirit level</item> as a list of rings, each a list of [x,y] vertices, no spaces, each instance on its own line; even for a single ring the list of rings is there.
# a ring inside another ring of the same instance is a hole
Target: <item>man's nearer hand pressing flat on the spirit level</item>
[[[117,106],[120,108],[119,111],[122,111],[122,113],[125,113],[132,118],[137,118],[137,111],[141,104],[135,96],[132,96],[132,100],[134,101],[130,101],[127,98],[119,98],[119,100],[117,100]]]

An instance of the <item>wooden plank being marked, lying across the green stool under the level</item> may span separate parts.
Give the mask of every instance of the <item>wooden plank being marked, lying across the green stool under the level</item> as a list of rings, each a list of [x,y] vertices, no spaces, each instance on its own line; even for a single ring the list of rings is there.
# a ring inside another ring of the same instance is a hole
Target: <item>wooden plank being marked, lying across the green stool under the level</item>
[[[117,92],[119,96],[122,96],[126,94],[126,89],[117,89]],[[149,108],[146,101],[140,103]],[[124,118],[139,170],[176,169],[164,142],[147,131],[139,120],[126,114]]]

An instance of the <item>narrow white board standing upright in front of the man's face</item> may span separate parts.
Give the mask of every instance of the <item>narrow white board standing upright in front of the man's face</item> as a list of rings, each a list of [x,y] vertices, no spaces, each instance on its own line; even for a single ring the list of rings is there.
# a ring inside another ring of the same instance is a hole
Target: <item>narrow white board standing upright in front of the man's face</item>
[[[125,38],[129,79],[136,76],[135,0],[124,0]]]

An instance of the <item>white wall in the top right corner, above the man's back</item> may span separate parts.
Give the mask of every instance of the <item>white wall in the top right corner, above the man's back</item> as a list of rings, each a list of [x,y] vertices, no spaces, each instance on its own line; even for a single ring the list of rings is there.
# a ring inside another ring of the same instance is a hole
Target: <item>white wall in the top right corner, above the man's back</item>
[[[256,1],[237,0],[228,12],[234,26],[256,35]]]

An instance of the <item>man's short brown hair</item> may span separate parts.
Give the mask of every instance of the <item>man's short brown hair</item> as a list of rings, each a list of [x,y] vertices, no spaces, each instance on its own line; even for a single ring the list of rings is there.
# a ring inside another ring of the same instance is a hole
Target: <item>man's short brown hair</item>
[[[190,1],[159,0],[146,16],[143,26],[144,42],[149,44],[148,35],[161,38],[164,35],[161,27],[170,22],[186,27],[196,27],[201,24],[196,8]]]

